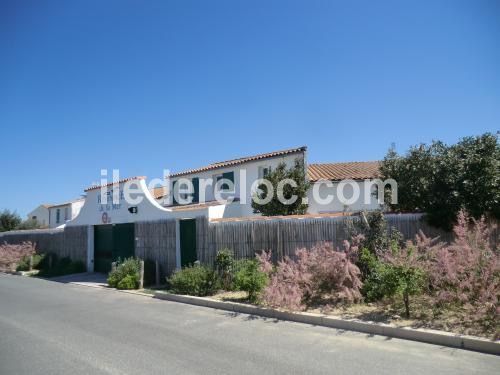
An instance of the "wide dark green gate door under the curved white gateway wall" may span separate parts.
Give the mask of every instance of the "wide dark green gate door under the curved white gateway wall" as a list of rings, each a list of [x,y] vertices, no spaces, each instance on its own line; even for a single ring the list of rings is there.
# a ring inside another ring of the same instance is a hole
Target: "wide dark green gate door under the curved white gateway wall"
[[[94,226],[94,271],[109,272],[111,263],[134,256],[134,224]]]

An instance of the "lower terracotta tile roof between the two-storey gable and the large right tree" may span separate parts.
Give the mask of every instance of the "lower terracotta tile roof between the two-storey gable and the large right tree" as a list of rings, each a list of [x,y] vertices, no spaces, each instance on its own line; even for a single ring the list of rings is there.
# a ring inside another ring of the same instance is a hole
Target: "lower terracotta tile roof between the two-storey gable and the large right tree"
[[[310,181],[344,179],[364,180],[379,175],[378,161],[355,161],[347,163],[321,163],[307,166],[307,177]]]

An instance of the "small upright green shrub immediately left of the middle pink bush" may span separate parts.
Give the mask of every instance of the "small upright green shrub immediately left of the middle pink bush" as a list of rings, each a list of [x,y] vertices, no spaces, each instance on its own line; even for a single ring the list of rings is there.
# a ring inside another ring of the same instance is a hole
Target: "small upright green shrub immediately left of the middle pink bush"
[[[255,302],[267,284],[267,275],[260,270],[256,259],[245,259],[237,262],[234,274],[234,286],[238,290],[248,292],[248,299]]]

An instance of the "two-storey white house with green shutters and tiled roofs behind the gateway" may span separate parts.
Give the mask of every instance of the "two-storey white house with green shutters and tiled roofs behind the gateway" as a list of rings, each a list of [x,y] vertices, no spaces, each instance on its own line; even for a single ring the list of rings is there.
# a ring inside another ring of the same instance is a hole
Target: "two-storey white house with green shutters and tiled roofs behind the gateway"
[[[283,162],[287,167],[291,167],[295,160],[299,159],[306,163],[307,178],[311,183],[307,197],[308,214],[345,213],[381,208],[376,195],[377,186],[370,185],[369,182],[378,177],[379,162],[308,165],[306,152],[306,147],[299,147],[212,163],[205,167],[174,173],[170,175],[168,191],[173,192],[178,183],[189,180],[194,190],[191,194],[180,194],[180,196],[187,198],[191,195],[192,203],[183,204],[184,207],[194,208],[212,204],[216,200],[216,192],[219,191],[222,198],[234,197],[238,202],[238,208],[233,209],[231,215],[254,216],[256,214],[251,207],[251,199],[255,191],[255,181],[265,177],[268,171],[274,170],[280,163]],[[216,181],[223,178],[231,181],[234,189],[228,189],[228,186],[223,185],[222,189],[221,186],[216,186]],[[211,180],[212,184],[203,188],[202,182],[207,180]],[[203,192],[205,192],[204,197]],[[166,191],[162,188],[153,189],[152,194],[157,202],[165,207],[173,208],[179,205],[175,200],[166,201]],[[225,217],[229,217],[229,214]]]

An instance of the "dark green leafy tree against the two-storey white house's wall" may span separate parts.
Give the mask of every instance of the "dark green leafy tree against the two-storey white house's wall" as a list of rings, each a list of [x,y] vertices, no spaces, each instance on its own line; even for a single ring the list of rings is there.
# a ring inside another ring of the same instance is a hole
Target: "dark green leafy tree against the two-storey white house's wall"
[[[252,199],[252,208],[255,213],[260,213],[263,216],[278,216],[300,215],[307,212],[308,205],[303,202],[303,198],[307,196],[310,184],[307,180],[303,160],[296,159],[294,166],[289,169],[287,169],[285,163],[280,163],[275,170],[265,176],[265,179],[270,182],[273,191],[269,192],[265,184],[258,186],[257,192]],[[297,199],[294,202],[283,203],[279,200],[277,194],[279,183],[285,179],[293,180],[296,183],[296,186],[290,184],[284,184],[283,186],[283,197],[290,200],[293,196],[296,196]],[[268,203],[259,204],[256,202],[256,198],[264,200],[268,197],[268,193],[272,193],[272,198]]]

